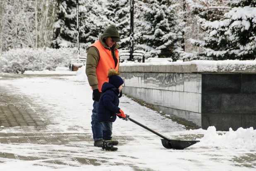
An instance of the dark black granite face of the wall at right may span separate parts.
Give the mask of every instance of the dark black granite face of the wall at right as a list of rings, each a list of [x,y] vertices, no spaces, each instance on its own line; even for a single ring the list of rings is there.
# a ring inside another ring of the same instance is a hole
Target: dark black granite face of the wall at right
[[[255,83],[255,74],[202,74],[202,128],[255,128]]]

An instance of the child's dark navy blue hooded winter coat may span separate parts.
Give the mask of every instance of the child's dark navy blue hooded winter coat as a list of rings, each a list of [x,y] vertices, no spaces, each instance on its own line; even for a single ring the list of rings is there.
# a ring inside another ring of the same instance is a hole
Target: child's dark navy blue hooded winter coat
[[[116,113],[120,110],[118,108],[119,99],[118,94],[119,90],[114,87],[114,85],[104,82],[101,88],[102,96],[99,99],[98,104],[98,120],[99,122],[115,122]]]

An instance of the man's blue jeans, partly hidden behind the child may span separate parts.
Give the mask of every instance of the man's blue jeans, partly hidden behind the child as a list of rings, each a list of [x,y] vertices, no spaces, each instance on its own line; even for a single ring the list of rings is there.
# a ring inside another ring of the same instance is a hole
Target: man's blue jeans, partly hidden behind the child
[[[94,141],[102,140],[103,133],[102,133],[102,126],[101,123],[98,121],[98,101],[93,102],[93,109],[92,109],[92,137]]]

